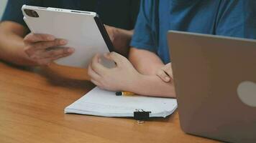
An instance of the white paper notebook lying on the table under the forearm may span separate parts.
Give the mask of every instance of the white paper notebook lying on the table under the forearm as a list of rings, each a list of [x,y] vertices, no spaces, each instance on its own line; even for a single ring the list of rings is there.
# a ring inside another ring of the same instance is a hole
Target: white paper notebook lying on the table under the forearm
[[[167,117],[177,108],[176,99],[142,96],[116,96],[95,87],[65,108],[65,113],[101,117],[134,117],[134,112],[151,112],[149,117]]]

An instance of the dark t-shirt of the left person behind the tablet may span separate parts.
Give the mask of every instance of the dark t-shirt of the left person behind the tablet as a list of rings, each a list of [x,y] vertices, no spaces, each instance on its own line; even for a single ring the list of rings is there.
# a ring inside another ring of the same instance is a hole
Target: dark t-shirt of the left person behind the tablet
[[[22,5],[96,11],[104,24],[121,29],[134,29],[140,0],[9,0],[1,21],[23,21]]]

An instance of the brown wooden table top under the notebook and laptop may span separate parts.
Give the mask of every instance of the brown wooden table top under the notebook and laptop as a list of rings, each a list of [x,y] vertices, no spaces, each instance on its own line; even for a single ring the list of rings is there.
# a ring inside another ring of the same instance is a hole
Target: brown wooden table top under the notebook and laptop
[[[0,142],[216,142],[181,131],[178,113],[134,119],[64,114],[94,86],[85,69],[20,68],[0,61]]]

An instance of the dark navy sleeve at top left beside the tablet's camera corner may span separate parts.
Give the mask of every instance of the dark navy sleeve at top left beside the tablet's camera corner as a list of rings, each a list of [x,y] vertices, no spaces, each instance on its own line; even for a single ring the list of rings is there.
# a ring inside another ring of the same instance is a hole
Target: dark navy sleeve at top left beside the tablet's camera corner
[[[1,21],[14,21],[23,26],[27,26],[23,21],[22,6],[23,4],[38,6],[41,1],[32,0],[9,0]]]

